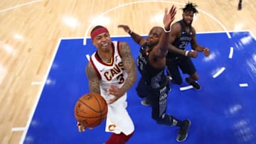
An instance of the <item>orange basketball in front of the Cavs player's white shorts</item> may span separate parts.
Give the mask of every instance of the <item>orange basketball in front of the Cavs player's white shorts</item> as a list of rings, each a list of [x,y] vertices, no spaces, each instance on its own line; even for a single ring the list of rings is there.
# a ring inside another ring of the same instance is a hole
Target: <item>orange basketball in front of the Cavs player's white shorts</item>
[[[84,94],[76,102],[74,112],[82,126],[94,128],[107,118],[107,102],[100,94]]]

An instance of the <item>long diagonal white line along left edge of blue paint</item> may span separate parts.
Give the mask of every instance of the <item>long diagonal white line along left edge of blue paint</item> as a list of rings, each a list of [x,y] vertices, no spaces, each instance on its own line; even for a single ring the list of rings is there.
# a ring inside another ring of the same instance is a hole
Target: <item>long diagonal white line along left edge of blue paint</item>
[[[55,59],[56,53],[57,53],[58,48],[59,48],[59,46],[60,46],[60,41],[61,41],[61,39],[58,40],[58,43],[57,43],[57,45],[55,46],[55,51],[53,52],[52,60],[50,61],[50,64],[49,64],[49,66],[48,66],[48,70],[47,70],[47,72],[46,72],[45,78],[43,79],[43,82],[42,82],[42,85],[41,85],[41,89],[38,91],[38,96],[36,97],[35,104],[34,104],[33,108],[31,109],[31,114],[30,114],[30,116],[29,116],[29,118],[28,118],[28,121],[27,121],[27,123],[26,123],[26,127],[24,128],[23,135],[21,136],[20,144],[23,144],[23,141],[25,140],[25,137],[26,137],[26,133],[28,133],[29,125],[30,125],[30,123],[31,123],[31,121],[32,121],[33,114],[34,114],[35,111],[36,111],[36,106],[38,105],[38,101],[39,101],[39,99],[40,99],[40,97],[41,97],[41,94],[42,94],[42,92],[43,92],[43,87],[44,87],[44,85],[46,84],[47,77],[48,77],[48,75],[49,75],[49,73],[50,73],[50,68],[51,68],[51,66],[53,65],[53,61],[54,61],[54,59]]]

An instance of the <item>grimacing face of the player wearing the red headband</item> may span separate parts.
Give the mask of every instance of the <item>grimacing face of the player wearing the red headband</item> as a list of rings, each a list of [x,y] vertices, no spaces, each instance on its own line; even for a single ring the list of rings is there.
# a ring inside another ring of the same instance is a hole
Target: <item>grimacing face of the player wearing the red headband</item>
[[[93,38],[92,43],[98,50],[109,50],[111,48],[110,33],[100,33]]]

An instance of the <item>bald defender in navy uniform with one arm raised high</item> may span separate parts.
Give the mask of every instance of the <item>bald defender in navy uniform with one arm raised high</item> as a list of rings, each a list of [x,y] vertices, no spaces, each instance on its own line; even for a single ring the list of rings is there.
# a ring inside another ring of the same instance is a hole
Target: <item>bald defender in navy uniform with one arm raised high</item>
[[[164,74],[166,54],[170,44],[170,25],[174,21],[175,15],[175,6],[172,6],[170,10],[165,9],[164,28],[159,26],[151,28],[148,38],[142,38],[141,35],[132,32],[129,26],[119,25],[118,27],[124,28],[124,31],[129,33],[132,39],[141,46],[137,57],[137,67],[142,74],[140,79],[142,82],[139,83],[139,89],[137,89],[138,94],[147,92],[146,98],[151,104],[151,116],[157,123],[180,128],[176,140],[181,142],[187,138],[191,121],[180,121],[166,113],[170,86]]]

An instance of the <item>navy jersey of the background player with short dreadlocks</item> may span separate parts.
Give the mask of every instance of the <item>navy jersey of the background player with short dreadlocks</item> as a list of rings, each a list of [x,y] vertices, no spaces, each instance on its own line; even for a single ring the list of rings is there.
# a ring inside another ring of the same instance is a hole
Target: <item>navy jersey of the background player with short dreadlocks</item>
[[[176,48],[179,48],[181,50],[185,50],[186,46],[188,45],[189,42],[191,42],[192,37],[193,37],[193,31],[192,31],[192,26],[189,26],[189,30],[186,31],[184,26],[183,26],[183,20],[178,21],[176,23],[179,23],[181,25],[181,33],[178,35],[176,40],[174,40],[174,45]],[[167,57],[169,58],[176,58],[178,56],[181,56],[179,54],[176,54],[174,52],[168,52]]]

